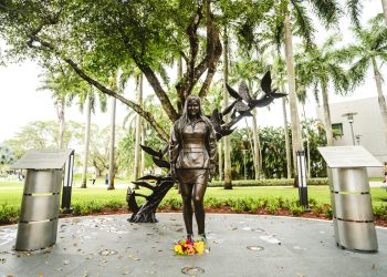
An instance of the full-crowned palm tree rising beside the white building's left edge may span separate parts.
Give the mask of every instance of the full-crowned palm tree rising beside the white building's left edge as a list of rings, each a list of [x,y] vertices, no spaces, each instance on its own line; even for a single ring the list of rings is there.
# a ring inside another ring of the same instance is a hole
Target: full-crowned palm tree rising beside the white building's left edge
[[[315,45],[303,48],[300,54],[296,54],[296,73],[300,90],[312,88],[316,95],[321,91],[323,100],[323,116],[326,141],[328,146],[333,146],[333,131],[331,121],[331,111],[328,103],[328,88],[333,83],[336,93],[348,90],[348,78],[343,68],[344,59],[341,51],[335,49],[339,41],[338,35],[330,37],[321,48]]]

